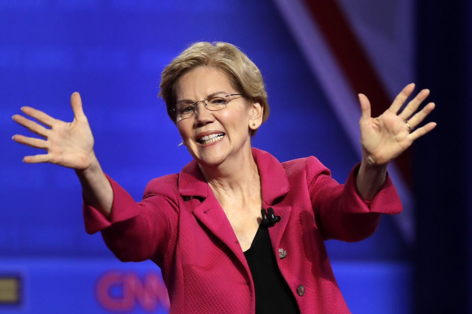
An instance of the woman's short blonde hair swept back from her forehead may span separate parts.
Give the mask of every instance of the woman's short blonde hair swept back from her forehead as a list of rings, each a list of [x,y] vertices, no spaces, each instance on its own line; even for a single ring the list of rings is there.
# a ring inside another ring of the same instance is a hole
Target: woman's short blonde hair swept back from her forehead
[[[238,93],[244,94],[263,111],[262,122],[267,120],[269,105],[261,71],[247,55],[235,45],[225,42],[197,42],[175,57],[161,74],[159,96],[164,99],[167,114],[176,123],[172,109],[176,105],[175,88],[177,80],[188,71],[199,66],[211,66],[223,70]],[[251,131],[251,136],[257,130]]]

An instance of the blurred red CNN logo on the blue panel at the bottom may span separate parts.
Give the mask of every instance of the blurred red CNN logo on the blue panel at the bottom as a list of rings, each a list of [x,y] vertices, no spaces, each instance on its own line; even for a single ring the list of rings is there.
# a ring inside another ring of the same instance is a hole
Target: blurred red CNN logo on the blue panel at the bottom
[[[136,271],[110,270],[95,285],[98,303],[112,312],[127,312],[141,306],[143,310],[169,311],[169,296],[161,277],[153,271],[141,279]]]

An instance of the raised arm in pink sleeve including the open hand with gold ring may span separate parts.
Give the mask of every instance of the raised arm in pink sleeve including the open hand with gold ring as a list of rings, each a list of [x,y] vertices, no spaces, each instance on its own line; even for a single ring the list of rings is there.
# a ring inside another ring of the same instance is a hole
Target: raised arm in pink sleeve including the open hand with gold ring
[[[325,239],[364,239],[374,233],[382,213],[401,211],[400,199],[386,172],[387,164],[436,126],[430,122],[413,131],[434,109],[435,105],[429,103],[417,111],[429,95],[427,89],[420,91],[399,113],[413,89],[414,84],[407,85],[377,118],[370,116],[367,97],[359,94],[362,161],[353,168],[345,184],[337,184],[318,160],[307,162],[312,206]]]

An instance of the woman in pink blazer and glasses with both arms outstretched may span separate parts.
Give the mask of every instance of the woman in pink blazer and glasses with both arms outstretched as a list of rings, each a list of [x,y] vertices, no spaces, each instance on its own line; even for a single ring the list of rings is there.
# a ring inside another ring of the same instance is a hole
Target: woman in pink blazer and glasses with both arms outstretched
[[[434,108],[414,113],[429,91],[398,114],[413,92],[407,85],[377,118],[359,94],[363,158],[340,185],[315,157],[279,163],[251,148],[267,119],[266,91],[257,67],[235,46],[190,46],[164,69],[160,87],[193,160],[150,181],[139,203],[101,170],[78,93],[71,96],[72,123],[23,107],[51,129],[15,115],[46,139],[13,139],[48,151],[26,162],[75,169],[87,232],[101,231],[121,261],[154,261],[170,313],[349,313],[323,240],[363,239],[380,213],[401,211],[386,166],[435,127],[412,132]],[[266,209],[275,214],[266,217]]]

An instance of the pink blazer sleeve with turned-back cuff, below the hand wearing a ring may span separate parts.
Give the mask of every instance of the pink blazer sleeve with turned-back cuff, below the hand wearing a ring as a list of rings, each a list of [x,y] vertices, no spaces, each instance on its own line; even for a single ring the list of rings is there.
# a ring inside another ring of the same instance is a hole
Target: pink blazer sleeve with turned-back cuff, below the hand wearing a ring
[[[306,166],[310,200],[324,239],[362,240],[375,232],[381,213],[396,214],[402,210],[388,173],[374,198],[365,201],[355,183],[360,163],[354,166],[344,184],[337,183],[315,157],[307,158]]]

